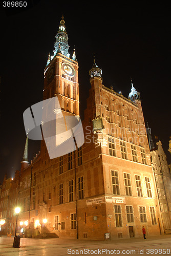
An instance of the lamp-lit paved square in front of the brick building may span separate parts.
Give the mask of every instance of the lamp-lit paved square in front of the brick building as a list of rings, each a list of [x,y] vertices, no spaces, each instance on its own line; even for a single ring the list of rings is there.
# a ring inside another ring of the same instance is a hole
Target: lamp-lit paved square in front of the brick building
[[[171,234],[120,240],[76,240],[21,238],[20,247],[13,248],[14,237],[0,237],[1,256],[65,256],[65,255],[118,255],[154,254],[171,255]]]

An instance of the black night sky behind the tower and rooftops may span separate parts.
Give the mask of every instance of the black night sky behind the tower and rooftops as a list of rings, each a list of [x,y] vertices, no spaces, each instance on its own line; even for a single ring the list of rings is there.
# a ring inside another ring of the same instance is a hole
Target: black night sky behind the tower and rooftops
[[[42,100],[44,69],[53,55],[62,14],[79,63],[80,114],[89,96],[89,69],[102,68],[103,84],[127,97],[140,92],[145,122],[163,144],[168,163],[170,132],[170,7],[149,1],[99,4],[26,1],[29,8],[1,7],[0,180],[20,168],[26,133],[23,112]],[[64,2],[64,1],[63,1]],[[107,2],[106,2],[107,3]],[[129,3],[129,4],[127,4]],[[2,6],[2,3],[1,3]],[[39,150],[29,140],[29,161]]]

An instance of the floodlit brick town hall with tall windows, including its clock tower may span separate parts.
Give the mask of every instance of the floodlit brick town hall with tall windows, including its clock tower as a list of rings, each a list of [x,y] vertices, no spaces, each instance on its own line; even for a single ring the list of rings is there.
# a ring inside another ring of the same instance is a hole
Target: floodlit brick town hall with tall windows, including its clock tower
[[[62,17],[45,68],[43,99],[58,97],[63,116],[79,117],[78,62],[68,49]],[[89,72],[83,145],[50,159],[42,140],[29,164],[26,141],[20,171],[2,186],[5,232],[14,234],[16,206],[17,231],[24,228],[26,237],[132,238],[142,237],[142,226],[148,236],[164,232],[140,94],[133,83],[128,98],[105,87],[95,60]]]

